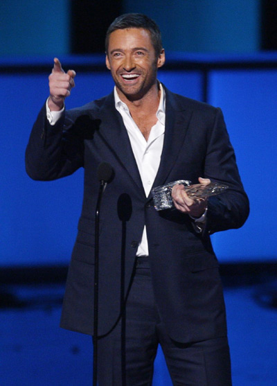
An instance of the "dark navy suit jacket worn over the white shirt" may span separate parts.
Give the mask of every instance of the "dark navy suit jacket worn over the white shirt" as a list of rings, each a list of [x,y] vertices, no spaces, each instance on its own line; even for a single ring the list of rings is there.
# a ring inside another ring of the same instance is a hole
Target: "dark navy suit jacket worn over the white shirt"
[[[229,185],[208,200],[206,227],[197,234],[192,220],[175,210],[155,211],[145,197],[139,170],[114,95],[66,111],[54,126],[42,108],[30,134],[26,170],[33,179],[51,180],[84,168],[84,198],[69,274],[61,326],[93,333],[94,213],[97,169],[114,169],[102,198],[100,214],[99,333],[105,334],[120,315],[122,278],[121,210],[126,221],[125,292],[136,249],[146,225],[154,295],[172,339],[193,342],[226,335],[218,262],[210,234],[243,225],[249,213],[235,155],[220,109],[172,94],[166,89],[166,131],[154,186],[198,177]],[[125,202],[125,201],[126,202]]]

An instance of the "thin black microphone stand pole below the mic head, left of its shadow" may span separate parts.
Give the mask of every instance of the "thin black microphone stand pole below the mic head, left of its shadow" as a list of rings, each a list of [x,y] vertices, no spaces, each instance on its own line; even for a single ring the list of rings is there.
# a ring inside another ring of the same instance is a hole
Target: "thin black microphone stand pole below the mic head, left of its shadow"
[[[98,283],[99,283],[99,220],[100,204],[102,194],[105,191],[107,182],[100,180],[98,200],[96,204],[96,222],[95,222],[95,252],[94,252],[94,299],[93,299],[93,386],[97,385],[97,353],[98,353]]]

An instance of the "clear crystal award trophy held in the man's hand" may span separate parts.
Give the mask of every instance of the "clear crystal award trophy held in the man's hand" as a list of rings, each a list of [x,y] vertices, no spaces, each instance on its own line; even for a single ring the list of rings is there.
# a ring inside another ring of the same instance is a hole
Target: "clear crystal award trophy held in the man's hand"
[[[192,199],[197,198],[208,198],[211,195],[217,195],[226,191],[229,186],[225,184],[217,184],[217,182],[211,182],[210,184],[195,184],[190,185],[191,181],[187,179],[178,179],[177,181],[170,182],[166,185],[157,186],[153,188],[151,193],[154,200],[154,208],[157,211],[162,211],[163,209],[171,209],[173,207],[171,190],[175,185],[184,185],[185,191],[188,197]]]

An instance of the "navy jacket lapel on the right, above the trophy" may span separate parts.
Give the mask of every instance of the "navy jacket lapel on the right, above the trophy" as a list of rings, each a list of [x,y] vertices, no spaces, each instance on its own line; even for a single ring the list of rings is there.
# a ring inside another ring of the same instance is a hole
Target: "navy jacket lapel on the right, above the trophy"
[[[178,103],[175,94],[168,91],[166,87],[164,89],[166,90],[166,130],[161,163],[153,186],[165,184],[170,171],[174,168],[192,115],[192,112],[186,110],[184,104]]]

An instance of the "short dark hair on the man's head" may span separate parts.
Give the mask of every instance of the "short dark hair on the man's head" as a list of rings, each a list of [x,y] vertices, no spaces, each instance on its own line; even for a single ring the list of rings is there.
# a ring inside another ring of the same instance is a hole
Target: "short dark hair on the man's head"
[[[151,41],[154,46],[154,50],[157,56],[163,49],[161,42],[161,31],[159,26],[150,17],[143,15],[142,13],[125,13],[124,15],[116,17],[109,26],[106,33],[105,50],[108,53],[109,35],[115,30],[123,30],[125,28],[143,28],[150,33]]]

